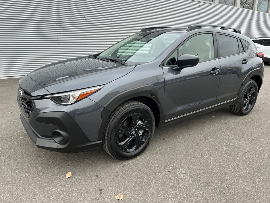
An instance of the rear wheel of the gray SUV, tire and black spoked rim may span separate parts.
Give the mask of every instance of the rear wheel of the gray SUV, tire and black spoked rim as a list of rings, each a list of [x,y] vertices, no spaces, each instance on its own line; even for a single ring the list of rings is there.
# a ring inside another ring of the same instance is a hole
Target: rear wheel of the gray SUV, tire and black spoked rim
[[[230,110],[237,115],[246,115],[254,107],[258,96],[258,85],[254,80],[248,80],[241,93],[238,96],[237,102],[230,106]]]

